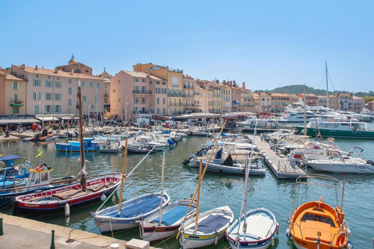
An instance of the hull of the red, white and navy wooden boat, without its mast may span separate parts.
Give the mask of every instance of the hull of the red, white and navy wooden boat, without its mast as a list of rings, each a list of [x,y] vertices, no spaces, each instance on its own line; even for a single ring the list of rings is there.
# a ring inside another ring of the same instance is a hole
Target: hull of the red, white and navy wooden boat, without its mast
[[[121,182],[121,176],[103,176],[86,182],[86,191],[80,183],[46,190],[39,193],[15,197],[13,210],[17,213],[37,214],[64,211],[65,205],[70,208],[87,205],[100,200],[102,195],[112,193]]]

